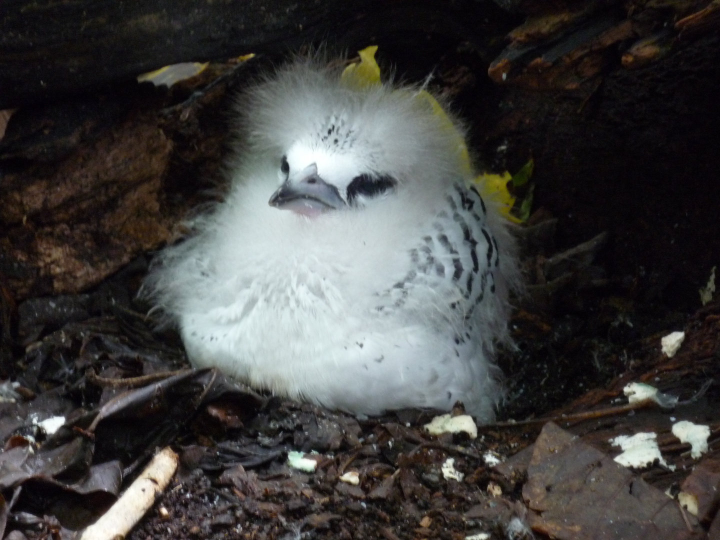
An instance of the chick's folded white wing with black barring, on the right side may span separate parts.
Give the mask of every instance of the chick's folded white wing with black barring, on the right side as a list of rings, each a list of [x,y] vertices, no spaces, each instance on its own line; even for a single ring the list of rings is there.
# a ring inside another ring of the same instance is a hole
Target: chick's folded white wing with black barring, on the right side
[[[444,374],[444,391],[436,392],[435,368],[426,355],[420,361],[413,348],[397,346],[392,360],[428,373],[425,387],[417,390],[420,395],[426,392],[428,405],[450,408],[459,400],[483,420],[492,418],[500,390],[491,350],[505,324],[498,317],[505,310],[505,297],[495,294],[496,280],[502,279],[501,256],[482,197],[472,187],[454,184],[408,251],[408,272],[378,296],[375,310],[390,324],[425,321],[424,341],[428,352],[437,355],[432,363]]]

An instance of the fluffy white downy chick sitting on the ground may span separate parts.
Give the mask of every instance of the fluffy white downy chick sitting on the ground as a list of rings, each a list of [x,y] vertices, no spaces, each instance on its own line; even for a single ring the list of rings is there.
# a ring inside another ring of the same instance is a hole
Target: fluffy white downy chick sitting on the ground
[[[300,60],[242,96],[230,192],[145,282],[195,366],[351,413],[494,418],[512,240],[418,93]]]

